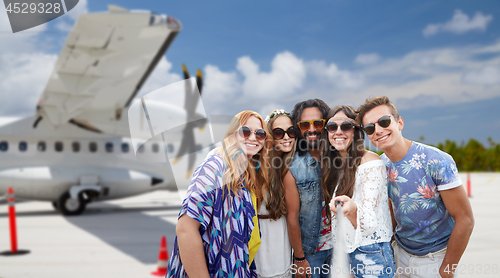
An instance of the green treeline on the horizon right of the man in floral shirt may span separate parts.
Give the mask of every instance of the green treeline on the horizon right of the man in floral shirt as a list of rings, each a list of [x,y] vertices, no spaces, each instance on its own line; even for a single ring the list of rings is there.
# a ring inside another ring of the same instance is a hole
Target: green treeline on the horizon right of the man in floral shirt
[[[423,136],[420,136],[418,141],[425,144],[423,139]],[[491,137],[487,140],[489,146],[486,147],[475,139],[469,139],[466,144],[446,140],[432,146],[450,154],[457,164],[458,171],[500,172],[500,143],[496,143]],[[377,153],[380,155],[383,152]]]

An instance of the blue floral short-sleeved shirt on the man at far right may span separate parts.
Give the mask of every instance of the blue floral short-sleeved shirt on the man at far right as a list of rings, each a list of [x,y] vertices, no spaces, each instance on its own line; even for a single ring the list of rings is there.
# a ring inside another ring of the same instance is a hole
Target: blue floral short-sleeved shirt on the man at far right
[[[388,194],[397,227],[396,241],[408,252],[422,256],[448,244],[455,220],[439,191],[462,185],[453,158],[434,147],[413,142],[400,161],[383,154],[389,175]]]

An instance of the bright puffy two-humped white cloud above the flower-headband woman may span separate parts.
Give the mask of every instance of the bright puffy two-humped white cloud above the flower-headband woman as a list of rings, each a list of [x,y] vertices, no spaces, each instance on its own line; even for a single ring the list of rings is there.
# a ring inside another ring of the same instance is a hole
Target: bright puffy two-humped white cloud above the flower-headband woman
[[[259,65],[248,56],[239,58],[236,68],[245,77],[246,96],[281,98],[301,88],[306,77],[304,62],[288,51],[274,57],[270,72],[260,72]]]

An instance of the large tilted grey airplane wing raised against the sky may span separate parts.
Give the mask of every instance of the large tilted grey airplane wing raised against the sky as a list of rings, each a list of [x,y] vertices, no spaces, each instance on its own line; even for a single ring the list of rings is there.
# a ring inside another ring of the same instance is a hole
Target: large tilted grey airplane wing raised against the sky
[[[172,17],[109,6],[81,15],[37,105],[39,119],[57,128],[113,130],[181,30]],[[121,133],[121,132],[118,132]]]

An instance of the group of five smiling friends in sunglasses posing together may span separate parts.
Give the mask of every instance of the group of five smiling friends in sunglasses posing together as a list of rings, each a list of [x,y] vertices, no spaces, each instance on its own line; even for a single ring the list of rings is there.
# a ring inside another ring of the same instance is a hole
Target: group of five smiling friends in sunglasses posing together
[[[453,277],[470,202],[453,158],[403,127],[387,97],[238,113],[193,174],[166,277],[329,277],[337,239],[351,277]]]

